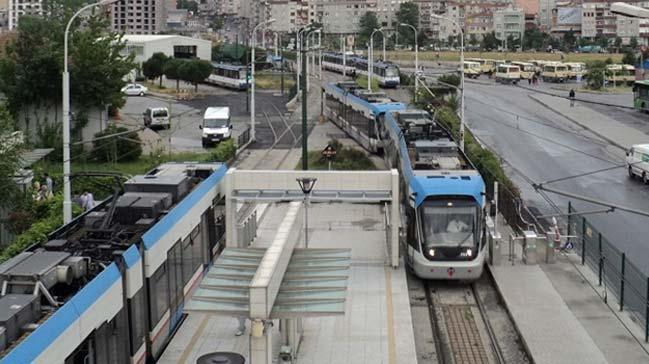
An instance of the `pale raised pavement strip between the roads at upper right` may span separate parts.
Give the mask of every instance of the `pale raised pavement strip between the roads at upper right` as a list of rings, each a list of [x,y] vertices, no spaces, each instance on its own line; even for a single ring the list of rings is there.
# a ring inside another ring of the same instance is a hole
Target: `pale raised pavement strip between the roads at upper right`
[[[575,107],[570,107],[570,101],[561,97],[543,94],[529,97],[625,151],[634,144],[643,144],[649,140],[647,134],[580,105],[579,102],[576,102]]]

